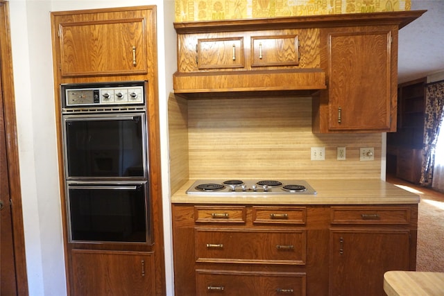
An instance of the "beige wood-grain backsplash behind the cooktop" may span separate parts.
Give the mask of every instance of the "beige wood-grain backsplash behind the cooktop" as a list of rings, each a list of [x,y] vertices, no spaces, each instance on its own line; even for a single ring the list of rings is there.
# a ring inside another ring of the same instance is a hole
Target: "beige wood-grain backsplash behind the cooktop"
[[[187,103],[190,179],[380,178],[381,134],[313,134],[311,98]],[[325,147],[325,161],[311,161],[311,147]],[[345,161],[336,147],[347,148]],[[360,162],[360,147],[374,147],[375,160]]]

